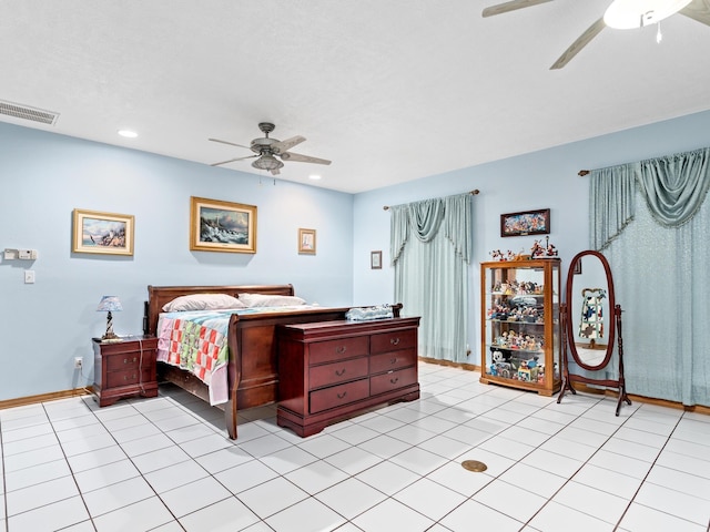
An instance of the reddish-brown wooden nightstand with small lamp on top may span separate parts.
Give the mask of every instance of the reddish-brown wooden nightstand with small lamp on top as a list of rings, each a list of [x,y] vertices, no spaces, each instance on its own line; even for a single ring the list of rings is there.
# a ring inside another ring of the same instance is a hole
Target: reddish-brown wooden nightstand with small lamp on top
[[[158,396],[154,336],[129,336],[121,341],[93,340],[93,391],[100,407],[132,396]]]

